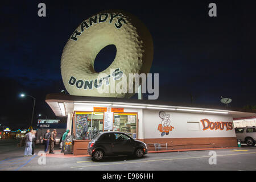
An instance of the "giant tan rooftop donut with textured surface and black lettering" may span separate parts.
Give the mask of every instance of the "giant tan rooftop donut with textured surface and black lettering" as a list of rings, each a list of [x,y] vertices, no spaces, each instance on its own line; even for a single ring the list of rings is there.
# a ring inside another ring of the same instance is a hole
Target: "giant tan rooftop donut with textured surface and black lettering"
[[[94,59],[112,44],[117,48],[113,63],[97,73]],[[153,52],[151,34],[138,18],[124,11],[104,11],[84,20],[69,38],[61,56],[61,76],[71,95],[130,97],[129,93],[97,89],[117,85],[129,73],[150,72]]]

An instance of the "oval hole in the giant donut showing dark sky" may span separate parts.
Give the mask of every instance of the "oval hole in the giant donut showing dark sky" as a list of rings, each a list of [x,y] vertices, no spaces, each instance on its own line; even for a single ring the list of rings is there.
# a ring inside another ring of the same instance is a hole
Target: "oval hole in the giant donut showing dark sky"
[[[94,60],[94,71],[98,73],[104,71],[113,63],[116,55],[117,47],[115,45],[111,44],[102,48]]]

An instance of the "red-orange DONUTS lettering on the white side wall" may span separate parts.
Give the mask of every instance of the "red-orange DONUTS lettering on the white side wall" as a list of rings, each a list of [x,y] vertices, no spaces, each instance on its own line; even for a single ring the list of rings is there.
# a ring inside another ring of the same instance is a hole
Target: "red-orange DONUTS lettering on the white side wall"
[[[233,129],[232,122],[210,122],[209,119],[201,119],[201,123],[203,125],[203,131],[208,129],[224,130],[226,128],[226,131]]]

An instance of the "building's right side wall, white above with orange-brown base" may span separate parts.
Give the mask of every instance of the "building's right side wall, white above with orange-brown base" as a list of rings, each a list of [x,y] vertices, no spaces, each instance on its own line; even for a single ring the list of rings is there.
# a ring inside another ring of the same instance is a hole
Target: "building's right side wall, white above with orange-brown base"
[[[170,114],[169,126],[173,128],[168,135],[161,135],[162,132],[158,130],[158,127],[164,121],[159,117],[159,110],[143,110],[144,137],[140,140],[147,143],[150,150],[155,150],[154,143],[162,144],[161,150],[166,149],[166,145],[168,150],[237,146],[234,127],[232,130],[227,130],[226,126],[223,130],[203,130],[204,127],[201,123],[201,119],[208,119],[210,122],[232,122],[233,118],[230,115],[172,111],[165,111],[165,113]]]

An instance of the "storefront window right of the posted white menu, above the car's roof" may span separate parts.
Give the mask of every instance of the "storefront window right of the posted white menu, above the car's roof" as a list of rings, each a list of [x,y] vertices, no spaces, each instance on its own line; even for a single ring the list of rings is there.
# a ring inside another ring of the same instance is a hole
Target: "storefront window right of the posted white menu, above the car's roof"
[[[132,138],[137,138],[137,114],[114,113],[113,131],[120,131]]]

